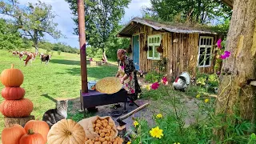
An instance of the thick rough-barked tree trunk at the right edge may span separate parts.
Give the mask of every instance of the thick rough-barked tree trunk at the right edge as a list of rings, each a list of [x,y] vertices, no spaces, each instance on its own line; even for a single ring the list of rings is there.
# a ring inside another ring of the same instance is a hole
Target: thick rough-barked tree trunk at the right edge
[[[247,80],[256,79],[256,1],[234,0],[230,30],[226,39],[230,58],[223,60],[222,80],[218,90],[216,114],[238,114],[243,120],[254,122],[255,86]],[[236,110],[234,110],[236,106]],[[226,122],[226,118],[223,118]],[[234,124],[236,124],[234,122]],[[226,130],[214,134],[223,140]]]

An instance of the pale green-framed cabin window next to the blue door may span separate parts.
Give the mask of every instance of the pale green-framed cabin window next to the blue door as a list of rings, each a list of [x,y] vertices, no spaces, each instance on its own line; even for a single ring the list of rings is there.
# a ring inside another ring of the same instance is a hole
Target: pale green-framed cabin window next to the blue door
[[[160,60],[160,53],[158,53],[158,46],[160,46],[161,42],[161,35],[150,35],[147,39],[147,58],[148,59],[154,59],[154,60]]]

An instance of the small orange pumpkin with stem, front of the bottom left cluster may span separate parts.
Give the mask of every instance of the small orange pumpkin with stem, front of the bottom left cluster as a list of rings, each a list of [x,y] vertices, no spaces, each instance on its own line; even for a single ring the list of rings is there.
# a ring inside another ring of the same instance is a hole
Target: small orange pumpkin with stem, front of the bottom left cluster
[[[19,140],[19,144],[45,144],[45,140],[42,134],[34,133],[33,130],[29,130],[27,134],[24,134]]]

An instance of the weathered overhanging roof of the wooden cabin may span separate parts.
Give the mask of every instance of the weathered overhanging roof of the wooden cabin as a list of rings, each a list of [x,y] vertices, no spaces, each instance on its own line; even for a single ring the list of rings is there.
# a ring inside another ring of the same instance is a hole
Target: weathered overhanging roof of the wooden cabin
[[[146,18],[133,18],[119,30],[118,37],[131,37],[132,34],[136,32],[141,26],[150,26],[154,30],[159,31],[169,31],[174,33],[183,33],[183,34],[217,34],[214,30],[209,30],[206,27],[196,27],[196,26],[184,26],[184,24],[174,24],[167,22],[157,22],[151,19]]]

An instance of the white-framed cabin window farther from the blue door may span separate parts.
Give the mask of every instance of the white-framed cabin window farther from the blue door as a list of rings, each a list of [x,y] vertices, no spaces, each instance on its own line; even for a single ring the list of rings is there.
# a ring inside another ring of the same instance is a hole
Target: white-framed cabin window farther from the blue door
[[[198,50],[198,67],[210,66],[213,42],[213,37],[200,37]]]

